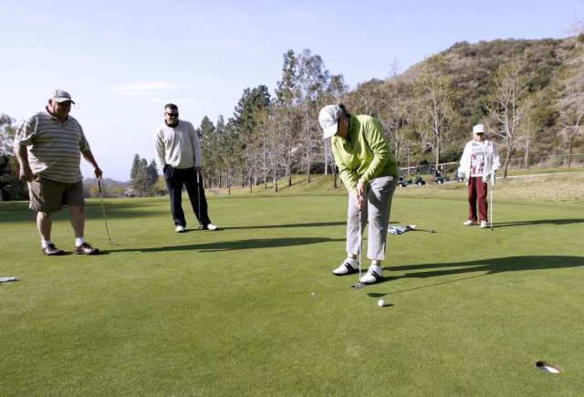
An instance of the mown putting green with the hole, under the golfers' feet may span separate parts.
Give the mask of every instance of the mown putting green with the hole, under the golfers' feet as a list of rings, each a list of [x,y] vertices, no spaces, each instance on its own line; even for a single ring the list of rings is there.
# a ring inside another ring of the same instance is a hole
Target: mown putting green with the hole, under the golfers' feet
[[[93,257],[43,256],[27,203],[0,203],[22,280],[0,284],[0,395],[582,394],[582,204],[502,200],[491,231],[466,200],[395,197],[392,225],[436,233],[388,235],[383,283],[352,290],[346,201],[211,198],[223,229],[176,234],[168,197],[108,199],[109,245],[89,200]],[[65,211],[53,241],[71,252]]]

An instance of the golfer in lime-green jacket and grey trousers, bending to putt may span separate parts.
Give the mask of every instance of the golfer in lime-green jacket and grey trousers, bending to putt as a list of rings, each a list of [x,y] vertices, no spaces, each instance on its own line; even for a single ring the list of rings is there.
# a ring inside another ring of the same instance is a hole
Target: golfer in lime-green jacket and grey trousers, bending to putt
[[[385,259],[391,198],[398,182],[397,164],[383,127],[374,117],[352,116],[343,105],[328,105],[322,108],[318,121],[324,139],[331,138],[340,179],[349,191],[347,258],[332,273],[344,276],[359,268],[359,231],[369,222],[367,258],[371,265],[360,281],[377,283],[383,279],[381,261]]]

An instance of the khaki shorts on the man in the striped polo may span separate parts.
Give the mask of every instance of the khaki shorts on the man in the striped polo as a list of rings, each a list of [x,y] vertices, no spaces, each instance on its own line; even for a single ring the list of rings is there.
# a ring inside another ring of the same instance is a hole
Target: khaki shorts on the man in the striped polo
[[[30,209],[40,213],[56,213],[63,206],[85,206],[83,181],[57,182],[37,178],[29,182]]]

